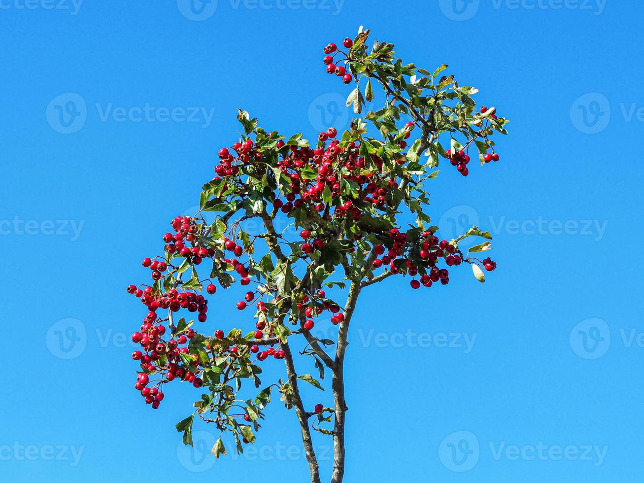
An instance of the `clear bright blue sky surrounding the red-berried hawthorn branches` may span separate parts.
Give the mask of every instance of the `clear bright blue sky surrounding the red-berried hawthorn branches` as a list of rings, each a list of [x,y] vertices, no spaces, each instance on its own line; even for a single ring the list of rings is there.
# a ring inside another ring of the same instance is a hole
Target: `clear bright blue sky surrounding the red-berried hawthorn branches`
[[[450,64],[511,136],[494,166],[430,185],[446,235],[493,232],[488,282],[461,267],[448,287],[363,294],[346,481],[641,481],[641,2],[58,1],[0,0],[1,479],[307,481],[277,400],[257,452],[214,463],[205,425],[182,448],[174,425],[196,392],[175,386],[153,412],[133,390],[126,336],[142,314],[125,287],[198,204],[238,106],[285,133],[346,126],[348,88],[321,48],[364,24],[408,61]],[[119,121],[146,104],[214,114]],[[79,116],[67,126],[60,108]],[[207,330],[250,326],[238,295],[218,296]],[[329,444],[316,437],[325,479]]]

